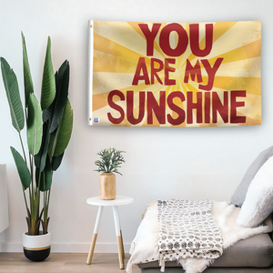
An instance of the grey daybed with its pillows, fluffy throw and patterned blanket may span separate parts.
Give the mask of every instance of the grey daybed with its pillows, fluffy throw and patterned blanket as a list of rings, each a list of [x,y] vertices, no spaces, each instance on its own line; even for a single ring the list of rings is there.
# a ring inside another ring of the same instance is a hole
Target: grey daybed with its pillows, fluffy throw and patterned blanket
[[[228,202],[148,204],[126,272],[273,272],[272,156],[273,147],[258,155]]]

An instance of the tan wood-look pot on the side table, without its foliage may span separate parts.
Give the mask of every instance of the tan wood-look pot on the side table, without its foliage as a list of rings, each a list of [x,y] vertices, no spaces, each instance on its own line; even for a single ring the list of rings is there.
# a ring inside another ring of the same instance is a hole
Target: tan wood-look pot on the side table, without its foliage
[[[113,173],[102,173],[99,176],[99,197],[103,200],[116,198],[116,176]]]

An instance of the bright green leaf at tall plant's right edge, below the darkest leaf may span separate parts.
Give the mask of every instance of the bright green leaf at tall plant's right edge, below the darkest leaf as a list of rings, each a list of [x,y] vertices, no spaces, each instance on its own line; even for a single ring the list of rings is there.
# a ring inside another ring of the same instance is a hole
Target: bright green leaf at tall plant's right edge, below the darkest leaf
[[[51,134],[48,147],[49,157],[60,156],[66,149],[73,127],[73,110],[67,98],[66,107],[61,117],[60,125]]]

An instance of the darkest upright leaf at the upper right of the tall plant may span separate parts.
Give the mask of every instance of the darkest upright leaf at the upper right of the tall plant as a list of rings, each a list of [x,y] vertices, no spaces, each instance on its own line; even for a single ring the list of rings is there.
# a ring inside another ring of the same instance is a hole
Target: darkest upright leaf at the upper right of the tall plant
[[[49,132],[52,133],[60,124],[61,116],[64,107],[66,106],[66,99],[68,96],[69,85],[69,63],[65,61],[63,65],[56,72],[56,98],[54,101],[54,114]]]

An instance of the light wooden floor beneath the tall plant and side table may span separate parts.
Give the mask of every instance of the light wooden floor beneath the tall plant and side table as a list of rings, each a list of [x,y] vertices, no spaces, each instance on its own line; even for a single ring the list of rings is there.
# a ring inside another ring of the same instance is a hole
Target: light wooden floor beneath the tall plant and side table
[[[51,253],[43,262],[32,262],[23,253],[0,252],[0,273],[126,273],[119,268],[116,253],[95,253],[91,265],[86,265],[86,258],[84,253]],[[128,258],[126,254],[125,265]],[[133,273],[139,272],[139,268],[133,267]]]

